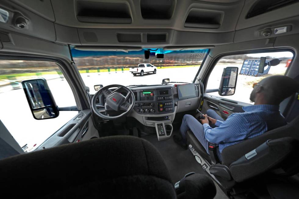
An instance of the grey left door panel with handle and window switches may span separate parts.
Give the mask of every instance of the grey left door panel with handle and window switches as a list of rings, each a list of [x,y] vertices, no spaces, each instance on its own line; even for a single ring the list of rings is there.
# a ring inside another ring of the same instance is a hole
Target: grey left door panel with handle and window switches
[[[99,133],[93,125],[90,109],[86,109],[79,112],[36,150],[56,147],[62,144],[76,143],[95,137],[99,138]]]

